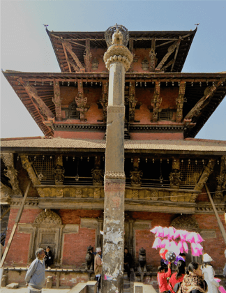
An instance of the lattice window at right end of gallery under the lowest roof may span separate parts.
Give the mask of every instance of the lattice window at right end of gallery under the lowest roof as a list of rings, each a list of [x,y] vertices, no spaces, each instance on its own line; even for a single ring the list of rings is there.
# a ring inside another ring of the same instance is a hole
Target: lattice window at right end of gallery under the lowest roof
[[[195,185],[203,170],[203,164],[199,160],[181,160],[180,171],[181,185]]]

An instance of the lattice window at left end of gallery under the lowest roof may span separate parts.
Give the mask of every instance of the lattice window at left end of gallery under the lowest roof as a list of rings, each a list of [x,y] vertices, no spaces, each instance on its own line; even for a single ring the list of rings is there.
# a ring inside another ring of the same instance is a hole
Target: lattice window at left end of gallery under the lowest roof
[[[54,181],[52,170],[55,165],[55,156],[36,156],[36,160],[33,159],[33,167],[36,171],[36,175],[43,175],[41,176],[41,183],[51,183]]]

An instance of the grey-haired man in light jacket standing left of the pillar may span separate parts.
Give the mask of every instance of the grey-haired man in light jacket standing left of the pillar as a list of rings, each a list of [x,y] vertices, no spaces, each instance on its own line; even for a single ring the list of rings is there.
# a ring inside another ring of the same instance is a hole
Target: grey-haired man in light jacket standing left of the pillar
[[[41,293],[45,285],[45,250],[36,250],[36,259],[31,262],[25,276],[26,286],[29,293]]]

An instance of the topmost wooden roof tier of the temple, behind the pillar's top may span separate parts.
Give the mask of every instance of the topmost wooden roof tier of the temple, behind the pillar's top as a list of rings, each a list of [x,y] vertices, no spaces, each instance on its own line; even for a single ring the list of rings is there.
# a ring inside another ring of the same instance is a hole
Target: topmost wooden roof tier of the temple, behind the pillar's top
[[[95,32],[57,32],[46,30],[54,52],[57,57],[57,61],[61,68],[61,72],[76,72],[72,63],[75,62],[73,54],[76,55],[80,63],[84,65],[84,54],[86,53],[87,44],[89,44],[90,50],[107,50],[107,43],[105,41],[104,31]],[[134,54],[134,57],[139,57],[136,54],[138,49],[146,49],[147,59],[149,59],[149,52],[151,48],[154,49],[156,54],[156,68],[169,52],[169,47],[176,44],[174,51],[167,57],[165,65],[169,64],[167,68],[162,68],[162,72],[178,72],[180,73],[183,64],[186,61],[190,45],[193,42],[197,29],[194,31],[130,31],[130,41],[128,43],[129,50]],[[89,40],[89,43],[87,43]],[[70,49],[63,42],[69,44]],[[139,53],[138,53],[139,55]],[[75,58],[76,58],[75,57]],[[94,56],[91,57],[93,59]],[[103,57],[102,57],[103,59]],[[76,63],[76,62],[75,62]],[[75,64],[76,65],[76,64]]]

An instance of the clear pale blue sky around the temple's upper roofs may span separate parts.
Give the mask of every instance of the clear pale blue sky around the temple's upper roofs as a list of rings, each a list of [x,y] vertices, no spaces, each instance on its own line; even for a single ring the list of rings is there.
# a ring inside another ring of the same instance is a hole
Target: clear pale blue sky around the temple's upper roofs
[[[199,24],[182,72],[226,71],[226,1],[1,1],[1,68],[60,72],[50,31],[189,31]],[[226,98],[197,138],[226,140]],[[1,73],[1,138],[43,135]]]

